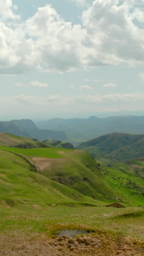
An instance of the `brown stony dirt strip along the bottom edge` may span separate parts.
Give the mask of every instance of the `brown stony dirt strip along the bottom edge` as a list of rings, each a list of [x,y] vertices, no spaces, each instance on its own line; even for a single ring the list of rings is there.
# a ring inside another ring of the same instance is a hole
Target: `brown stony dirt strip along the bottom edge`
[[[81,237],[50,238],[46,235],[0,235],[0,255],[3,256],[138,256],[144,254],[144,243],[121,235],[92,234]]]

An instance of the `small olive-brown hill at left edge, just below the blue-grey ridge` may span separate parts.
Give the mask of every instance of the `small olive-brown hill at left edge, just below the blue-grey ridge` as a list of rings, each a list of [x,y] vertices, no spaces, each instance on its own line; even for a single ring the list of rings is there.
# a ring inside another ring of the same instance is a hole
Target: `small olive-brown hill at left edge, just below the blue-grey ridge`
[[[3,147],[19,147],[19,148],[38,148],[38,147],[47,147],[53,148],[53,146],[49,144],[45,144],[41,141],[20,137],[16,135],[12,135],[9,133],[0,133],[0,146]]]

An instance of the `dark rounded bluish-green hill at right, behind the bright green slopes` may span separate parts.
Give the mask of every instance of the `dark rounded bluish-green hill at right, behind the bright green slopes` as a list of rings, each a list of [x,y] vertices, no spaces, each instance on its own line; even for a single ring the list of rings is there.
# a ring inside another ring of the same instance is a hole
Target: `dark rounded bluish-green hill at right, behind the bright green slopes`
[[[144,135],[111,133],[83,142],[77,149],[86,150],[103,163],[140,158],[144,154]]]

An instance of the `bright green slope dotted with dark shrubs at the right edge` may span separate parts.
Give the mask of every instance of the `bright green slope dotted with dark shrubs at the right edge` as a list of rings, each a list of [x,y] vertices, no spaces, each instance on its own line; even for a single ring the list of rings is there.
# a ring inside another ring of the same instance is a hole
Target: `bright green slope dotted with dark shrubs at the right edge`
[[[105,179],[115,191],[121,191],[120,199],[133,206],[144,205],[143,178],[130,171],[127,164],[118,164],[104,169]],[[139,201],[139,203],[138,203]]]

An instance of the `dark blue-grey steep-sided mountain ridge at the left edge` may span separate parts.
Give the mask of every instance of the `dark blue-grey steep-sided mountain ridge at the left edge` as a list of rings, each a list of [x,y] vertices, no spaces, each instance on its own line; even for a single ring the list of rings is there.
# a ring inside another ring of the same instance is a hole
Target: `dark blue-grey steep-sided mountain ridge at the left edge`
[[[11,120],[8,122],[0,122],[0,133],[7,132],[17,136],[24,136],[30,138],[37,138],[43,141],[44,139],[58,139],[65,141],[67,136],[65,132],[52,131],[39,129],[32,120],[22,119],[22,120]]]

